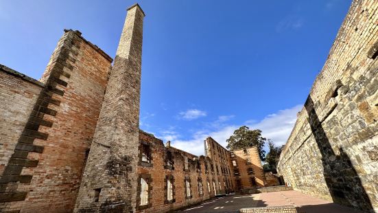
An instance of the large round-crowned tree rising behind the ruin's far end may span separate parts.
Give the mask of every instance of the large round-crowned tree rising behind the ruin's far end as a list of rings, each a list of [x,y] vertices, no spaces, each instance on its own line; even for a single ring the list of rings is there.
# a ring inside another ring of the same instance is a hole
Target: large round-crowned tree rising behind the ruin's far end
[[[257,146],[261,161],[264,160],[265,156],[265,150],[263,150],[265,141],[266,138],[261,136],[261,130],[250,130],[248,126],[241,126],[226,140],[228,143],[227,148],[231,150]]]

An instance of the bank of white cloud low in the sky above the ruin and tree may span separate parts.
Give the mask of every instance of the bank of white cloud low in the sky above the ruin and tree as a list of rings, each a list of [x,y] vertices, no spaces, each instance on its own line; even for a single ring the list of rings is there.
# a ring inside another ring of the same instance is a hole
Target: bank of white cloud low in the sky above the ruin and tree
[[[290,109],[283,109],[276,113],[272,113],[263,118],[263,120],[257,122],[256,120],[247,120],[246,126],[251,129],[259,128],[263,131],[263,137],[272,139],[276,146],[285,144],[287,138],[292,132],[292,128],[296,122],[296,113],[302,109],[303,105],[296,105]],[[228,117],[220,116],[215,122],[220,120],[229,120],[233,115]],[[227,119],[226,119],[227,118]],[[194,155],[204,155],[204,139],[206,137],[213,137],[218,143],[226,147],[226,139],[233,135],[235,129],[239,128],[243,124],[232,125],[224,124],[218,125],[218,128],[211,130],[202,130],[193,133],[191,139],[181,139],[178,133],[168,133],[164,137],[172,139],[172,146],[185,150]]]

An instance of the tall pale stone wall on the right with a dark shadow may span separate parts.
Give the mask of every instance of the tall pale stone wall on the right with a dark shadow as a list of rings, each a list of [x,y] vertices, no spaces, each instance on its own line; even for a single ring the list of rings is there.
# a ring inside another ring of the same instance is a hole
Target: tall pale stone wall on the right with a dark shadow
[[[294,190],[378,212],[378,2],[353,1],[281,153]]]

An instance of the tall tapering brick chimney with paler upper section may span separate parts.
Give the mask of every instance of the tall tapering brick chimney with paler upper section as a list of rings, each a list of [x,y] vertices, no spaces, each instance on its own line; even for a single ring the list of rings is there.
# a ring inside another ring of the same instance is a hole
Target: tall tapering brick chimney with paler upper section
[[[128,8],[75,212],[135,211],[144,16]]]

